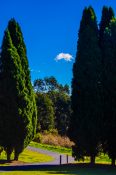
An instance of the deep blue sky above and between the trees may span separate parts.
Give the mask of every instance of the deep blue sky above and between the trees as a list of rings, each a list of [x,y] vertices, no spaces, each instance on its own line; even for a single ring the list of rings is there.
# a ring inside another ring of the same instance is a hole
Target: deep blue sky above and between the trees
[[[70,85],[82,11],[89,5],[98,23],[103,5],[116,12],[115,0],[1,0],[0,44],[14,17],[24,35],[32,81],[53,75],[59,83]]]

